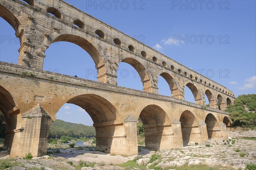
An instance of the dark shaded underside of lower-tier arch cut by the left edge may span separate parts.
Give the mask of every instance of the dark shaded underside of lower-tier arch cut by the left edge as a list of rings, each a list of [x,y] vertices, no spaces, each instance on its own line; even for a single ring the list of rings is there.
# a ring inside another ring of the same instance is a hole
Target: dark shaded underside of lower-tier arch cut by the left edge
[[[6,122],[4,148],[8,149],[10,153],[12,153],[12,147],[15,147],[15,145],[12,144],[15,133],[12,133],[12,131],[17,128],[17,113],[19,113],[19,110],[16,110],[15,107],[16,104],[12,95],[0,86],[0,110],[3,112]],[[13,112],[17,113],[11,114]],[[15,150],[15,148],[13,149]]]

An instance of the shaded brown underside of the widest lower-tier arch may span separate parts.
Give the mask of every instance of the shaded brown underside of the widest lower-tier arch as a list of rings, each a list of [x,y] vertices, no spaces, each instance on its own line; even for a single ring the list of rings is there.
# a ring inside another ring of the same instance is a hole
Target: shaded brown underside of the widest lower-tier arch
[[[121,119],[116,108],[108,100],[95,94],[79,95],[71,98],[67,103],[81,107],[90,115],[96,130],[96,150],[111,153],[114,132],[122,125],[115,124],[115,121]]]

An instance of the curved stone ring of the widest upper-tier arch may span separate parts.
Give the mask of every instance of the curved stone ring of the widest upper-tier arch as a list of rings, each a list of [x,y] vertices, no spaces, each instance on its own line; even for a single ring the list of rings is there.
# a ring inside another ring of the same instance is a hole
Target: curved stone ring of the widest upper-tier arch
[[[97,76],[98,81],[106,83],[107,80],[104,77],[104,75],[106,75],[106,67],[102,58],[103,54],[101,54],[98,51],[98,49],[96,49],[96,46],[94,45],[93,41],[87,40],[86,37],[84,37],[83,35],[80,35],[79,33],[72,32],[72,30],[61,30],[58,33],[53,32],[43,40],[43,42],[41,43],[41,46],[38,49],[38,53],[40,52],[44,53],[52,43],[55,43],[58,41],[66,41],[66,42],[74,43],[80,46],[82,49],[84,49],[91,56],[91,58],[95,63],[95,67],[98,71],[98,76]]]

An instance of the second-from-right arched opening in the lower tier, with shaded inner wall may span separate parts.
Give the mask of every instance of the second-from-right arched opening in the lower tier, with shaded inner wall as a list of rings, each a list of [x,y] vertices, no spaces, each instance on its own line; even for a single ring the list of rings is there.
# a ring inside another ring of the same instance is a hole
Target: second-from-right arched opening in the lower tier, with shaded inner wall
[[[205,123],[206,123],[209,139],[220,136],[221,130],[220,130],[218,121],[214,115],[209,113],[205,118]]]

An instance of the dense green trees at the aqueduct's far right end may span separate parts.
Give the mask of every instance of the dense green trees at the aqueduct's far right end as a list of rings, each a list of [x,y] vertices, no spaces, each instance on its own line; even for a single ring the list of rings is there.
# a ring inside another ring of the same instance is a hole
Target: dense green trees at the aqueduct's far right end
[[[230,112],[233,127],[256,127],[256,94],[239,95],[233,105],[229,105],[226,112]]]

